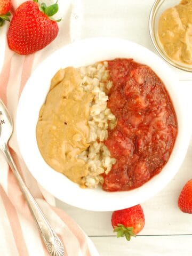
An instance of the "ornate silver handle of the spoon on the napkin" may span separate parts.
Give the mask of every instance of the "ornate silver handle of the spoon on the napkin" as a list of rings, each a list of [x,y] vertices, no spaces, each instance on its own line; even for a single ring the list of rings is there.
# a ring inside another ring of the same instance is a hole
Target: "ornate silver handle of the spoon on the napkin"
[[[15,178],[19,183],[19,186],[23,194],[25,195],[29,209],[34,216],[34,219],[37,223],[38,229],[40,231],[40,234],[43,238],[43,242],[47,250],[52,256],[64,256],[65,250],[58,235],[52,229],[51,225],[45,218],[45,215],[39,208],[37,202],[35,201],[34,197],[31,195],[29,189],[27,188],[23,179],[21,178],[21,175],[18,172],[17,167],[15,166],[13,158],[10,154],[9,148],[7,147],[7,144],[4,144],[4,146],[1,147],[1,149],[7,159],[7,163],[10,165],[11,170],[13,171]]]

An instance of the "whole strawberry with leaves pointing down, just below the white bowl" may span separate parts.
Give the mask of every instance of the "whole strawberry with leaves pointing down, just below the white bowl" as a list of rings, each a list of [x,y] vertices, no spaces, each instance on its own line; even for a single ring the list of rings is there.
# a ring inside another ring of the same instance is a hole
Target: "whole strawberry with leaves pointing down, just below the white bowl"
[[[130,241],[131,236],[138,234],[145,226],[145,216],[141,205],[113,212],[111,225],[114,232],[117,232],[117,237],[125,236]]]

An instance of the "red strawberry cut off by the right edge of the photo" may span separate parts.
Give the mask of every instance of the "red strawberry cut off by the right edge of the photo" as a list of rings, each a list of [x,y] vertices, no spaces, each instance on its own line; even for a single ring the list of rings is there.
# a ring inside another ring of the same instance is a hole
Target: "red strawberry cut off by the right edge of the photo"
[[[182,212],[192,213],[192,180],[189,180],[181,190],[178,206]]]

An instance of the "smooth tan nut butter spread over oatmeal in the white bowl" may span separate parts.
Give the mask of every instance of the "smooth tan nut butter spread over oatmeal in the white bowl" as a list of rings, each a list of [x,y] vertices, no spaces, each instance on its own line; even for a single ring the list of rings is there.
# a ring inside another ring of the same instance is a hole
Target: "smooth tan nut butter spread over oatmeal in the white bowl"
[[[81,81],[78,70],[72,67],[55,74],[39,112],[36,137],[46,163],[84,186],[88,165],[77,156],[89,147],[88,119],[93,96],[83,90]]]

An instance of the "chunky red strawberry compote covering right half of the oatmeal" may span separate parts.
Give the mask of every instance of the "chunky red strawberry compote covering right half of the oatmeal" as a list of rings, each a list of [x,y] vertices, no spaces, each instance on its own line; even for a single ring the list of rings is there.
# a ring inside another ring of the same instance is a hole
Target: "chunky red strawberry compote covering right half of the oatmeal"
[[[103,189],[140,187],[167,163],[178,132],[177,117],[161,79],[132,59],[108,61],[113,86],[107,106],[117,118],[105,145],[116,163]]]

